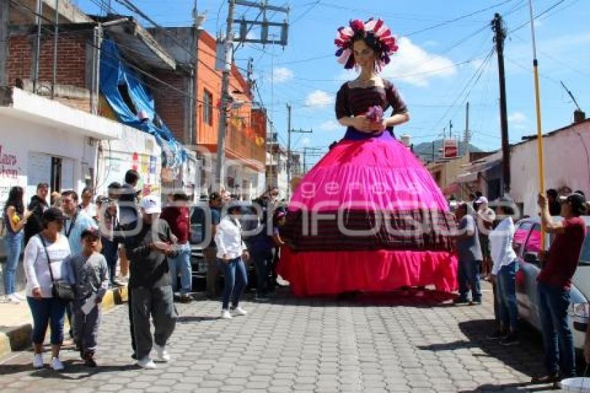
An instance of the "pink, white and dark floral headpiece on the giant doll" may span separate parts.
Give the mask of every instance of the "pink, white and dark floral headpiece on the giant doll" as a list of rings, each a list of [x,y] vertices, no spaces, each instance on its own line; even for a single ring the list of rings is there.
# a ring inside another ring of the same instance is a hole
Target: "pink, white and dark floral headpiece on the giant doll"
[[[353,53],[353,37],[361,33],[370,41],[374,40],[375,46],[380,49],[380,58],[377,59],[377,70],[379,71],[391,60],[389,56],[398,50],[396,38],[391,35],[389,27],[382,19],[369,19],[362,22],[360,19],[351,20],[347,27],[338,28],[334,43],[338,47],[336,56],[338,62],[344,64],[344,68],[351,69],[355,66],[355,55]]]

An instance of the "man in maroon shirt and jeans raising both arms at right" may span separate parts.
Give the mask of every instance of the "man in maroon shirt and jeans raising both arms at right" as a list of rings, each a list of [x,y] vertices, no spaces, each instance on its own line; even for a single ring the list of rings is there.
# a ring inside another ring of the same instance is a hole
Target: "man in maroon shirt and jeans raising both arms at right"
[[[534,383],[557,383],[559,379],[575,376],[573,336],[568,324],[571,278],[578,267],[586,224],[580,218],[586,211],[584,197],[570,194],[562,199],[561,222],[553,222],[544,194],[539,194],[541,220],[547,233],[555,233],[537,278],[539,317],[545,346],[547,375],[533,378]]]

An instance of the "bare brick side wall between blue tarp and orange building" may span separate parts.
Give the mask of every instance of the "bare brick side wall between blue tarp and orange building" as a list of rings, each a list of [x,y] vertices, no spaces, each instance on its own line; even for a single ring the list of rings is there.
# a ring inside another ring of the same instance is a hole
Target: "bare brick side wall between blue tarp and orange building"
[[[181,92],[187,92],[183,74],[176,72],[154,72],[162,81],[176,87]],[[185,142],[185,96],[158,82],[151,84],[151,92],[155,101],[155,112],[160,115],[162,121],[170,128],[174,136],[180,142]]]

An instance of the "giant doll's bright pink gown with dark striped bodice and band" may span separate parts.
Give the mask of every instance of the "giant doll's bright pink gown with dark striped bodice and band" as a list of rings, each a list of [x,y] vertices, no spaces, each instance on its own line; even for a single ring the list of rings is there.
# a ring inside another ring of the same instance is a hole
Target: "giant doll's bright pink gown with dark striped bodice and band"
[[[345,83],[337,118],[376,105],[405,112],[395,87],[384,85]],[[453,214],[421,161],[389,130],[348,127],[294,190],[284,229],[289,246],[278,274],[297,296],[457,287]]]

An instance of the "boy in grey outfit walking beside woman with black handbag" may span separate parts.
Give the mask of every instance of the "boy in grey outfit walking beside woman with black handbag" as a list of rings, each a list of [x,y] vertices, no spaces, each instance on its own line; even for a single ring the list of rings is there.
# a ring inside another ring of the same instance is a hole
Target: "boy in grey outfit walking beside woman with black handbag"
[[[106,259],[101,255],[101,235],[95,228],[82,231],[81,253],[68,257],[74,284],[74,324],[76,346],[87,367],[96,367],[94,352],[99,331],[100,308],[109,279]]]

